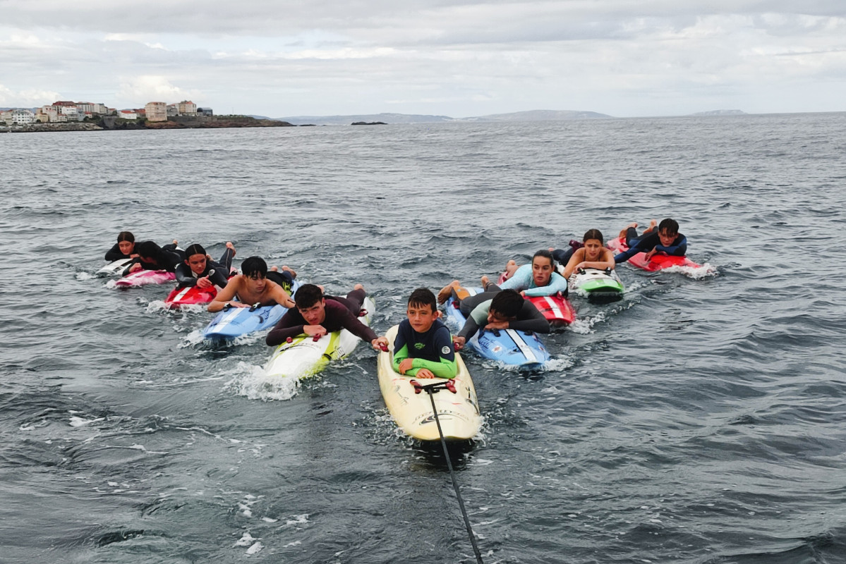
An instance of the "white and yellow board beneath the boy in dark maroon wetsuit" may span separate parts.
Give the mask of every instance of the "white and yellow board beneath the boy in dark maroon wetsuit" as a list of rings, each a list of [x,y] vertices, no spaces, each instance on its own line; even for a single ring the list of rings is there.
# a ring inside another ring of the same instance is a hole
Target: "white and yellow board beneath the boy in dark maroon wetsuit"
[[[370,297],[366,297],[361,307],[365,309],[365,315],[360,316],[359,320],[369,326],[376,304]],[[267,361],[265,375],[297,379],[314,375],[330,361],[349,356],[359,342],[361,339],[346,329],[332,331],[316,341],[310,335],[299,335],[276,348]]]

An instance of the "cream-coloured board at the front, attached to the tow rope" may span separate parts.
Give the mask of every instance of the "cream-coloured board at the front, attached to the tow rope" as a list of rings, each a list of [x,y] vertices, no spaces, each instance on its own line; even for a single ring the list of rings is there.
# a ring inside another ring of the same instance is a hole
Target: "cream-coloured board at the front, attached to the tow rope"
[[[387,331],[388,350],[379,353],[376,370],[379,388],[387,410],[406,435],[420,441],[439,441],[437,423],[431,409],[427,392],[415,393],[411,381],[426,386],[436,382],[447,382],[444,378],[414,378],[393,370],[393,342],[397,338],[398,326]],[[453,378],[455,392],[439,390],[432,397],[435,400],[437,419],[441,424],[443,438],[452,441],[466,441],[479,433],[481,416],[476,399],[473,380],[459,353],[455,353],[458,373]]]

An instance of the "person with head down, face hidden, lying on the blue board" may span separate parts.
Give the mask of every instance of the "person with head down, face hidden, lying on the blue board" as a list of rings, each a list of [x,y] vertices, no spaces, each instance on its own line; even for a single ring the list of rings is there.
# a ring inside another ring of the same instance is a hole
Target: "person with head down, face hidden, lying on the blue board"
[[[488,287],[497,288],[495,284]],[[458,293],[453,293],[458,298]],[[498,290],[477,293],[462,298],[459,309],[467,319],[459,334],[453,338],[455,350],[464,348],[468,339],[484,327],[487,330],[516,329],[548,333],[549,321],[535,304],[523,298],[517,290]]]

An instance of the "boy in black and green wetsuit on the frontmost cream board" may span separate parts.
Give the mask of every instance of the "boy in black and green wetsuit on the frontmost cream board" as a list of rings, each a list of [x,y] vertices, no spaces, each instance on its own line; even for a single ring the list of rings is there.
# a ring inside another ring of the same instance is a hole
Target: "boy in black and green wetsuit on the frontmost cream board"
[[[409,296],[407,319],[393,342],[393,370],[417,378],[454,378],[458,372],[453,340],[438,319],[435,294],[419,287]]]

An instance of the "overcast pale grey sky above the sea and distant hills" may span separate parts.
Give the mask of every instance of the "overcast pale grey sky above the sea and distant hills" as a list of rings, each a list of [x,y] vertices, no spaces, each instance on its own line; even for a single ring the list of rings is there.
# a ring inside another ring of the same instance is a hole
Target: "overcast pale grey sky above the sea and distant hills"
[[[844,0],[0,0],[0,107],[846,110]]]

